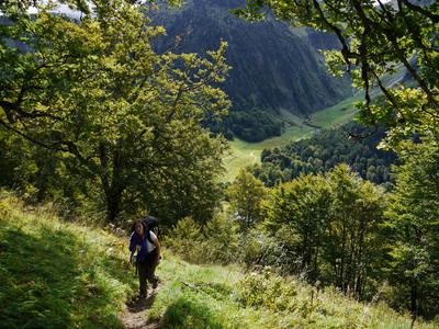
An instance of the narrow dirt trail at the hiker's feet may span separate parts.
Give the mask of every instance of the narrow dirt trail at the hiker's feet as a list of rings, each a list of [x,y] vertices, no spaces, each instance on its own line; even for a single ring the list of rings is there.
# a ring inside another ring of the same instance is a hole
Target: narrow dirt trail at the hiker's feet
[[[120,315],[121,321],[127,329],[161,329],[160,321],[150,321],[147,318],[147,311],[153,306],[156,299],[157,292],[160,290],[159,284],[155,290],[148,290],[148,297],[146,299],[134,299],[126,304],[125,311]]]

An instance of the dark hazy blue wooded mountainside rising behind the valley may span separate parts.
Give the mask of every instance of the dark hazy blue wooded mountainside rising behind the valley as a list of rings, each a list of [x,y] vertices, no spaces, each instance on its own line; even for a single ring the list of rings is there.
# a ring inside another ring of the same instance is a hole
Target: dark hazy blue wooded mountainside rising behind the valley
[[[306,117],[351,94],[348,78],[330,77],[318,49],[335,48],[335,36],[291,29],[269,18],[250,23],[228,12],[239,0],[189,0],[180,10],[153,12],[153,24],[167,27],[159,52],[202,53],[228,42],[233,67],[223,88],[233,101],[228,117],[214,131],[249,141],[280,135],[284,113]],[[178,42],[176,42],[178,41]]]

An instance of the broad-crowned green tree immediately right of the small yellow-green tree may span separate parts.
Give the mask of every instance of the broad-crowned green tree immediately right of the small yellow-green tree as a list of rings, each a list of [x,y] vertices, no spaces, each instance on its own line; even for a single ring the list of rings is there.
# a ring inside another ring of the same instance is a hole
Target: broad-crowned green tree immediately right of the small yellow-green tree
[[[289,231],[290,238],[282,243],[296,258],[297,269],[293,271],[306,274],[311,282],[322,279],[320,258],[330,203],[325,178],[302,174],[273,189],[268,205],[267,227],[275,236],[282,236],[279,234],[282,230]]]

